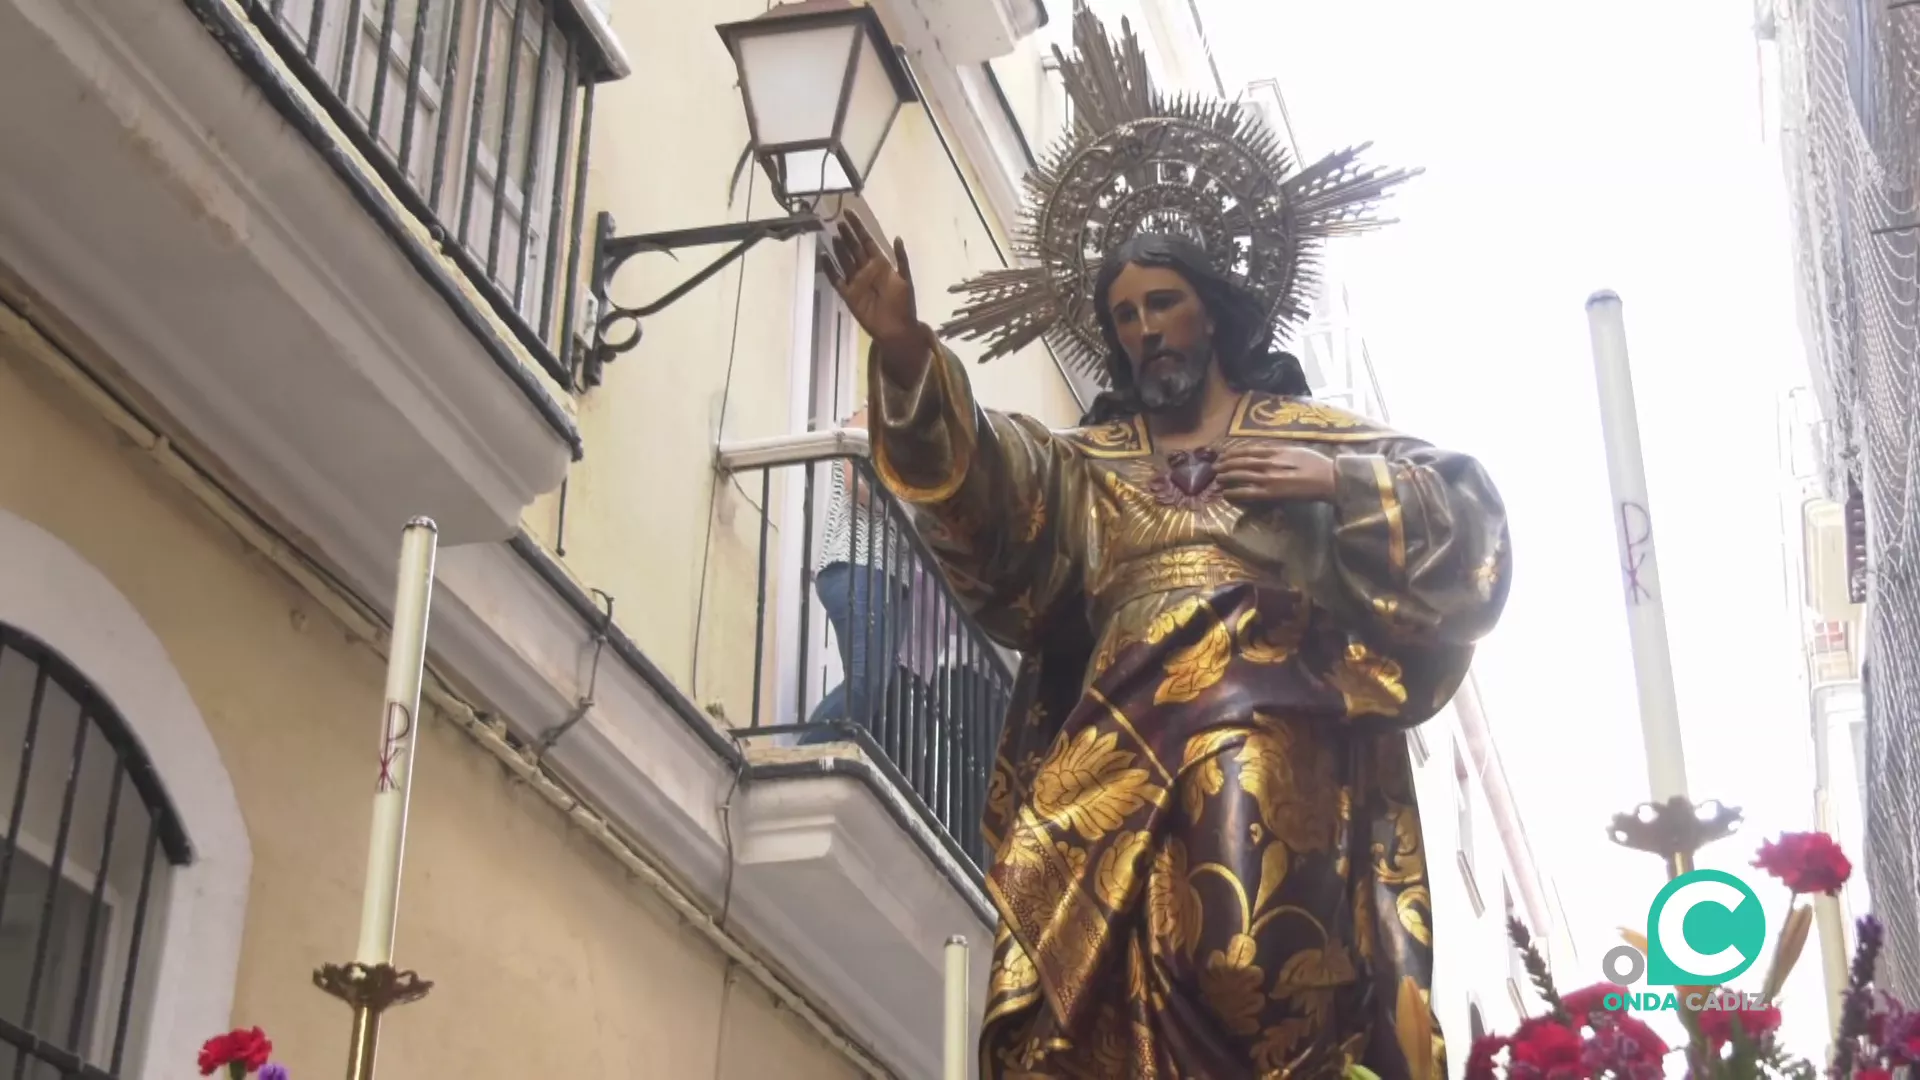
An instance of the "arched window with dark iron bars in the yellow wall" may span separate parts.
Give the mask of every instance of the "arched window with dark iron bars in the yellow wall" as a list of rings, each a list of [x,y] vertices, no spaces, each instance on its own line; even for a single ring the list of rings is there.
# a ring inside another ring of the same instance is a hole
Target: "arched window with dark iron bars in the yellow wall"
[[[119,711],[0,623],[0,1076],[109,1080],[144,1026],[186,832]]]

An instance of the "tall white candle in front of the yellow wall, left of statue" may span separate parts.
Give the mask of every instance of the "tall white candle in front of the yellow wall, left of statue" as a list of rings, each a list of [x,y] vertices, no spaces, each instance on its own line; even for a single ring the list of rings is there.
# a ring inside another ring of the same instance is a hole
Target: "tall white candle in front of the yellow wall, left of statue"
[[[407,846],[407,794],[413,790],[413,740],[420,715],[420,671],[426,665],[426,615],[434,596],[434,550],[440,530],[415,517],[399,540],[394,588],[394,636],[386,651],[386,701],[380,707],[380,757],[372,792],[372,840],[367,844],[367,896],[355,961],[394,961],[399,915],[399,861]]]

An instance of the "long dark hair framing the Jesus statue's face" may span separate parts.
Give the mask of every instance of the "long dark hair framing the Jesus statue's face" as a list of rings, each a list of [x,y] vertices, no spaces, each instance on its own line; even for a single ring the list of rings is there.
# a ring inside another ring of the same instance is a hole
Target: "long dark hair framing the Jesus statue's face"
[[[1198,244],[1171,233],[1140,233],[1121,244],[1100,263],[1092,284],[1094,317],[1100,319],[1100,338],[1106,342],[1106,375],[1112,390],[1092,400],[1081,417],[1083,425],[1098,425],[1139,415],[1140,388],[1133,384],[1133,363],[1119,348],[1119,331],[1106,298],[1114,279],[1129,265],[1162,267],[1187,279],[1208,315],[1213,317],[1213,359],[1235,390],[1263,390],[1288,398],[1306,398],[1306,371],[1286,352],[1267,338],[1267,311],[1240,282],[1213,269],[1213,261]]]

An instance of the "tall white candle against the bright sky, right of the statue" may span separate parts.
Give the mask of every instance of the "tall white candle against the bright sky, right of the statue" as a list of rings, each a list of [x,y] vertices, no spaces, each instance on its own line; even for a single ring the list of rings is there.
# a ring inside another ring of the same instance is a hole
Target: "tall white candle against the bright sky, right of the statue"
[[[1653,801],[1665,803],[1686,798],[1686,757],[1680,746],[1674,665],[1667,648],[1667,605],[1661,592],[1661,565],[1653,552],[1647,467],[1640,455],[1634,373],[1626,359],[1626,319],[1620,298],[1613,292],[1596,292],[1586,302],[1586,321],[1594,338],[1594,373],[1599,380],[1599,427],[1607,442],[1607,479],[1613,484],[1613,540],[1620,552],[1634,682],[1640,688],[1640,730],[1647,744],[1647,782]]]

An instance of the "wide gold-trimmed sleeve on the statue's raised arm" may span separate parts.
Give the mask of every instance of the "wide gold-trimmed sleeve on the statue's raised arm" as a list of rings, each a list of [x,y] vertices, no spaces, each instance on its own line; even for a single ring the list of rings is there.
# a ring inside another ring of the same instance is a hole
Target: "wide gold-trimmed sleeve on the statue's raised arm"
[[[868,357],[874,467],[904,500],[970,615],[1002,646],[1033,648],[1081,596],[1085,471],[1039,421],[981,409],[960,359],[922,329],[927,363],[912,386]]]

